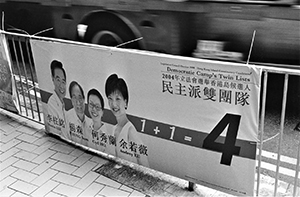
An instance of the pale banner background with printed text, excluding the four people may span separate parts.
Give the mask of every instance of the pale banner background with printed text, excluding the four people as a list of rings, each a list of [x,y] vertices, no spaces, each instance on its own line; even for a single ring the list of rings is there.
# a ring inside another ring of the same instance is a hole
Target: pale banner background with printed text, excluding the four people
[[[85,94],[96,88],[108,110],[107,77],[116,73],[126,81],[127,114],[136,120],[134,125],[147,145],[150,168],[228,193],[253,195],[259,69],[58,41],[33,39],[31,44],[39,87],[45,92],[53,92],[50,63],[55,59],[64,65],[67,86],[75,80]],[[240,150],[224,164],[221,160],[226,150],[210,150],[203,141],[225,118],[223,138],[213,140],[224,144],[232,117],[239,120],[235,120],[236,142],[231,145]]]

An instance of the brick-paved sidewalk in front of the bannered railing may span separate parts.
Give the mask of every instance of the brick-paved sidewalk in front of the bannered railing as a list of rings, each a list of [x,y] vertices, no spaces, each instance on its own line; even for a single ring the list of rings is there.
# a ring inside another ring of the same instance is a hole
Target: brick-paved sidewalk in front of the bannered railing
[[[198,185],[188,191],[182,179],[126,168],[48,135],[44,125],[3,109],[0,147],[1,197],[230,196]]]

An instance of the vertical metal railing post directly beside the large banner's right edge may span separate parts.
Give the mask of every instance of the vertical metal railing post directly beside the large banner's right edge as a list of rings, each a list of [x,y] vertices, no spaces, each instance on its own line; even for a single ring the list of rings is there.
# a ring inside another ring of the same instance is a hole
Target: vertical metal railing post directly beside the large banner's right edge
[[[259,144],[259,155],[258,155],[258,171],[257,171],[257,187],[256,187],[256,196],[259,195],[259,186],[260,186],[260,173],[261,173],[261,155],[263,149],[263,135],[264,135],[264,125],[265,125],[265,112],[266,112],[266,97],[267,97],[267,85],[268,85],[268,72],[264,72],[264,81],[263,81],[263,95],[262,95],[262,106],[260,114],[260,144]]]

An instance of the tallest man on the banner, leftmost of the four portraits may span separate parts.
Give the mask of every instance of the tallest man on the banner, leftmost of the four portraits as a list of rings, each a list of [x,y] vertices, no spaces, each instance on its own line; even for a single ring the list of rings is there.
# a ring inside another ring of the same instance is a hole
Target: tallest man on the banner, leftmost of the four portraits
[[[45,109],[46,131],[66,137],[64,103],[64,97],[66,96],[66,72],[63,68],[63,64],[58,60],[53,60],[51,62],[50,69],[54,92],[49,97]]]

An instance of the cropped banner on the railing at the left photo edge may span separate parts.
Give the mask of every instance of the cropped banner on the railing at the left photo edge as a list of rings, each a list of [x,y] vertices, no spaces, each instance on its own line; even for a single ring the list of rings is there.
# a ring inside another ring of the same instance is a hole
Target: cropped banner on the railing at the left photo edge
[[[7,53],[7,42],[4,34],[0,34],[0,108],[18,112],[15,102],[15,86]]]

